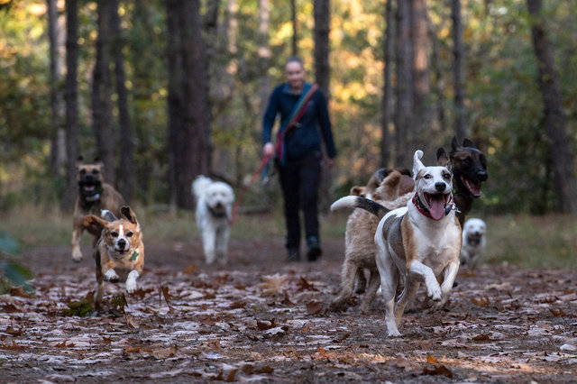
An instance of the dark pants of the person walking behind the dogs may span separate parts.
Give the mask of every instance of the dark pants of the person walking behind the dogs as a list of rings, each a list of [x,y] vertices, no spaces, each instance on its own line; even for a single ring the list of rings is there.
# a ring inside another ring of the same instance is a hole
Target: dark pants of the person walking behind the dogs
[[[280,187],[284,197],[287,224],[287,248],[300,246],[299,209],[305,216],[305,235],[318,238],[318,184],[321,176],[321,154],[311,153],[300,160],[286,160],[279,165]]]

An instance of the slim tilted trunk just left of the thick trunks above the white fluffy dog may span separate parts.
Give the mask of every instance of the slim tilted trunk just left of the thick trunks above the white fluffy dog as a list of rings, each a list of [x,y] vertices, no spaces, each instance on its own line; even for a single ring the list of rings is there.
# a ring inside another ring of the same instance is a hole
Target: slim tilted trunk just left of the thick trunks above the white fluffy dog
[[[118,123],[120,126],[120,174],[118,190],[127,203],[133,197],[134,185],[134,142],[133,128],[128,110],[128,92],[126,90],[126,74],[124,71],[124,36],[118,15],[120,0],[113,0],[110,8],[110,23],[112,32],[112,47],[114,52],[114,75],[116,78],[116,94],[118,95]]]

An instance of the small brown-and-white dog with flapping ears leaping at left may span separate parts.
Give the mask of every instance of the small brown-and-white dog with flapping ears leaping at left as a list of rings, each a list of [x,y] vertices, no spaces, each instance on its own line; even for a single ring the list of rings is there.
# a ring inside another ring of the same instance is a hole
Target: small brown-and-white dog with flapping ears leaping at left
[[[103,210],[102,217],[87,215],[84,225],[93,230],[100,229],[96,242],[96,293],[95,309],[102,305],[105,281],[125,283],[127,293],[136,290],[136,279],[142,276],[144,268],[144,243],[141,225],[130,206],[123,206],[120,212],[124,218],[117,218],[110,211]]]

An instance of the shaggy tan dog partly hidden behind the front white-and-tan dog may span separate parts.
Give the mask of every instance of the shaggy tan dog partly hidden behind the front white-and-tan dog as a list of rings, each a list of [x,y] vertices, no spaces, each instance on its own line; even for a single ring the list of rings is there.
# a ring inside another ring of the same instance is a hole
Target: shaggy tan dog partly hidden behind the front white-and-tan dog
[[[404,172],[401,174],[400,172]],[[379,169],[375,172],[366,187],[353,187],[351,195],[371,198],[372,200],[395,209],[407,206],[414,195],[415,182],[407,175],[408,170]],[[409,173],[410,174],[410,173]],[[381,178],[382,177],[382,178]],[[380,183],[375,186],[375,180]],[[362,293],[366,286],[364,269],[369,270],[369,287],[362,299],[361,311],[368,313],[379,289],[380,275],[375,261],[377,248],[374,242],[379,218],[362,209],[355,209],[346,223],[344,234],[344,262],[341,271],[341,291],[331,303],[331,309],[342,310],[353,295],[355,280],[357,293]]]

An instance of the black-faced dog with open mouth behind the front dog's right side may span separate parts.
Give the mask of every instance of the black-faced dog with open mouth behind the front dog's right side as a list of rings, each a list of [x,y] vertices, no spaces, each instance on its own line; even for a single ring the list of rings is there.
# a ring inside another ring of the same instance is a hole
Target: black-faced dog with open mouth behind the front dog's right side
[[[453,171],[454,204],[457,206],[457,218],[461,227],[465,216],[471,211],[472,202],[481,196],[481,183],[487,181],[487,158],[469,139],[459,145],[456,137],[451,142],[451,151],[447,155],[444,148],[436,151],[437,161],[443,163]]]

